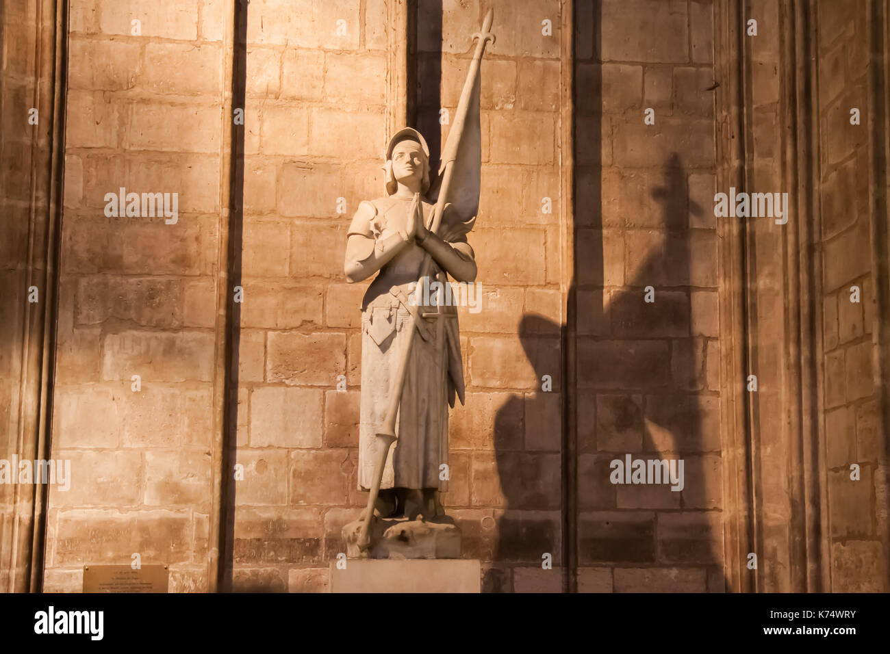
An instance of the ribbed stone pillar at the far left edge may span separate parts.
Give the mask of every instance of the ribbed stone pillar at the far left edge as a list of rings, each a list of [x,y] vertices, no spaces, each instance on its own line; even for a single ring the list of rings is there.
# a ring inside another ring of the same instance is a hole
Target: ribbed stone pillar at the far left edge
[[[66,5],[0,4],[0,458],[6,460],[50,457]],[[46,490],[0,485],[0,591],[42,588]]]

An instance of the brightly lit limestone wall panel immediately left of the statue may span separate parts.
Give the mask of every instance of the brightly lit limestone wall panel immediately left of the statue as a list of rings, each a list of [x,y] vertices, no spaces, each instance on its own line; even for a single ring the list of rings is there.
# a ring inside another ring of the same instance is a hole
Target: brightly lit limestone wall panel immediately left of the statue
[[[346,228],[383,191],[383,2],[250,4],[235,588],[324,590],[356,489]],[[342,392],[338,392],[337,388]]]

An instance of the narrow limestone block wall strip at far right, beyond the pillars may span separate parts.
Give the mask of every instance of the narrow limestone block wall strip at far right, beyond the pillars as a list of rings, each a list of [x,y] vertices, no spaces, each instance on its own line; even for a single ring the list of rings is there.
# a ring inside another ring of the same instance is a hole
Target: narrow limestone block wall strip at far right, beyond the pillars
[[[843,9],[820,2],[818,9],[824,428],[831,588],[837,592],[885,590],[868,143],[876,117],[869,110],[874,64],[866,10],[862,1]],[[851,124],[852,109],[859,109],[858,125]],[[860,467],[858,481],[851,479],[851,464]]]

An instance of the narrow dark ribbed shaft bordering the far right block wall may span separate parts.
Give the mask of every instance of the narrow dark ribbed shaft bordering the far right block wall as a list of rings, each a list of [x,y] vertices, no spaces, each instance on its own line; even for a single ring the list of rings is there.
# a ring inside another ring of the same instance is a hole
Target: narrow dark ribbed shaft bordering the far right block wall
[[[821,592],[827,568],[826,485],[822,457],[825,434],[821,430],[820,376],[821,262],[819,242],[821,214],[819,195],[818,76],[816,22],[811,4],[783,4],[780,13],[781,114],[789,125],[782,142],[782,189],[788,190],[794,208],[782,226],[785,235],[784,293],[788,307],[788,354],[784,420],[789,430],[791,461],[789,501],[791,522],[790,588]],[[827,125],[827,128],[831,128]],[[773,226],[775,227],[773,222]]]

